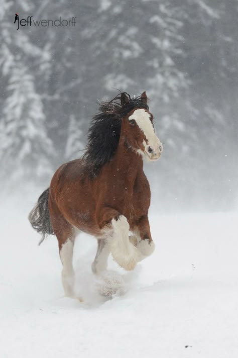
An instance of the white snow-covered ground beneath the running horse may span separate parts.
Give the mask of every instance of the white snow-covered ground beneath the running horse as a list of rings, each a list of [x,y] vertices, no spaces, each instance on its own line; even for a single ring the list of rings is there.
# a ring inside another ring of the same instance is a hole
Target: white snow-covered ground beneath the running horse
[[[97,293],[96,241],[78,238],[81,303],[63,297],[57,240],[40,247],[27,221],[33,203],[1,209],[1,358],[237,358],[237,213],[150,216],[156,251],[121,296]]]

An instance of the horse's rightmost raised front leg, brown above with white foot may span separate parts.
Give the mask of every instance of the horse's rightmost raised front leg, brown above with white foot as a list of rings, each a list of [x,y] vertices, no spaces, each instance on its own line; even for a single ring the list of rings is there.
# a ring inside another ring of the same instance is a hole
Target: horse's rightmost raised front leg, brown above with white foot
[[[151,237],[148,216],[142,216],[131,231],[133,235],[130,236],[130,241],[137,247],[138,251],[140,251],[141,261],[151,255],[155,249],[155,243]]]

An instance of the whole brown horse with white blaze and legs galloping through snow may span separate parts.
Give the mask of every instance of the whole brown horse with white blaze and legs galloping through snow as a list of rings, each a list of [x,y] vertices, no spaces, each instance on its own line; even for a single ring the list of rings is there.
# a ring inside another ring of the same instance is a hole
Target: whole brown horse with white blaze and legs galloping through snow
[[[155,248],[143,158],[157,160],[163,148],[155,134],[146,93],[134,99],[121,93],[102,102],[99,110],[92,119],[83,157],[56,170],[50,188],[29,215],[33,228],[43,234],[41,242],[46,234],[57,236],[62,283],[65,295],[71,297],[73,245],[78,232],[97,238],[92,263],[95,274],[106,270],[110,252],[120,266],[133,270]]]

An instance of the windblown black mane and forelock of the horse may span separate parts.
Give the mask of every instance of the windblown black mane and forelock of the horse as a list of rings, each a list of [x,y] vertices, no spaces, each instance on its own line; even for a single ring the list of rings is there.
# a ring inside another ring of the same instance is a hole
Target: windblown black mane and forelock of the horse
[[[121,104],[122,96],[127,96],[128,103]],[[99,103],[99,113],[92,118],[88,144],[82,157],[92,176],[96,176],[112,158],[120,139],[122,119],[134,108],[149,110],[141,96],[132,99],[126,92],[109,102]]]

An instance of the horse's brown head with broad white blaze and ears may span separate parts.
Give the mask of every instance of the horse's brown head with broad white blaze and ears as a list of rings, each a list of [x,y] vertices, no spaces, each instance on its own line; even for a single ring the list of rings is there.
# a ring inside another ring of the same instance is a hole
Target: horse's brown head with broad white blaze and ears
[[[122,120],[123,135],[127,145],[149,160],[157,160],[163,151],[162,143],[155,134],[153,115],[147,106],[147,95],[144,92],[137,99],[138,106],[132,109]],[[130,98],[122,93],[121,104],[127,106]]]

